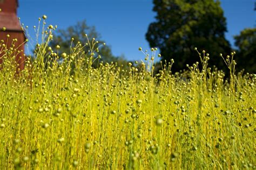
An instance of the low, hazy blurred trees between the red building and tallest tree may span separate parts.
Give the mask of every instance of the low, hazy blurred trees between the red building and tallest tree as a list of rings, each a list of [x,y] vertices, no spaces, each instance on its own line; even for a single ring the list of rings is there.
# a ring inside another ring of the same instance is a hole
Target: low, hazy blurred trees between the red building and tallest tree
[[[82,22],[78,22],[76,25],[69,26],[66,30],[57,30],[57,33],[53,35],[53,40],[50,42],[50,46],[56,47],[59,45],[59,51],[61,53],[69,54],[71,39],[74,39],[72,42],[73,45],[76,45],[78,41],[80,41],[82,45],[85,45],[87,43],[85,34],[87,34],[90,41],[95,38],[97,41],[99,41],[99,44],[104,43],[103,40],[100,40],[100,34],[96,31],[95,26],[88,26],[86,24],[86,20],[83,20]],[[84,51],[88,50],[88,47],[84,48]],[[97,55],[101,56],[100,61],[103,62],[119,61],[118,57],[112,54],[110,46],[107,45],[101,46]],[[121,60],[123,61],[124,58]]]

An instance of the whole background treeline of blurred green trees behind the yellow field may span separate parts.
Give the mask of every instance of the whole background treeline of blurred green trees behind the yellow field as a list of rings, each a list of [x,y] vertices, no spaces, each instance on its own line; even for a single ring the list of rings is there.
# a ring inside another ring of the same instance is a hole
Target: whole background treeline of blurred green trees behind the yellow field
[[[197,48],[201,55],[206,51],[205,55],[209,57],[211,68],[217,67],[227,72],[220,54],[227,58],[231,56],[231,52],[235,52],[237,72],[241,70],[256,72],[256,28],[247,28],[234,36],[237,49],[232,49],[230,42],[225,38],[226,18],[219,1],[154,0],[153,3],[153,11],[157,14],[156,21],[149,25],[146,40],[151,47],[160,49],[163,63],[170,63],[171,59],[174,59],[173,72],[186,69],[187,66],[192,66],[200,60],[194,48]],[[88,39],[105,44],[95,27],[88,26],[86,20],[65,30],[57,29],[53,37],[49,45],[52,48],[58,45],[59,52],[67,54],[70,52],[70,47],[78,42],[84,46],[85,52],[90,52],[89,46],[86,46]],[[136,65],[134,61],[127,61],[125,56],[114,56],[108,45],[98,47],[95,53],[98,63],[116,62],[117,66],[127,66],[127,62],[131,62]],[[94,67],[98,66],[97,62],[93,63]],[[156,69],[161,69],[160,63],[156,64]]]

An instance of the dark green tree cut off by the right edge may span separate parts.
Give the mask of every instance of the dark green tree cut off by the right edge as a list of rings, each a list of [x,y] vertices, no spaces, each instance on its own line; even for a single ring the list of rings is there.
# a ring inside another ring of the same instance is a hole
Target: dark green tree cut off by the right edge
[[[238,36],[234,36],[235,46],[238,47],[235,60],[239,70],[256,73],[256,28],[245,29]]]

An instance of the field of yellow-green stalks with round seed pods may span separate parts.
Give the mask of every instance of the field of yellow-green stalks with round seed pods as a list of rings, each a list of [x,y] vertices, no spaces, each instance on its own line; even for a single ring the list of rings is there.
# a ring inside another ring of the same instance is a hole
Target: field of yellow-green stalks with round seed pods
[[[153,74],[156,48],[139,48],[145,61],[129,70],[94,68],[95,39],[88,52],[71,40],[60,53],[48,46],[53,30],[38,31],[42,42],[19,73],[16,48],[0,42],[1,168],[255,168],[256,76],[235,74],[234,53],[222,56],[228,80],[197,49],[199,62],[182,73],[171,73],[171,60]]]

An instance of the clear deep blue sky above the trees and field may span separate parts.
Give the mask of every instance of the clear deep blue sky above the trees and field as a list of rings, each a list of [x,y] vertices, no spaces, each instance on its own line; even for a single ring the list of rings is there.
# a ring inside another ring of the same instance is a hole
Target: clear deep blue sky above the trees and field
[[[221,0],[227,18],[226,38],[232,45],[234,35],[256,25],[254,2]],[[86,19],[87,24],[94,25],[102,40],[111,46],[114,55],[124,54],[128,60],[140,60],[144,56],[138,47],[149,49],[145,33],[156,16],[152,8],[151,0],[20,0],[18,16],[29,28],[37,26],[38,17],[42,15],[48,16],[47,25],[58,25],[58,29]]]

